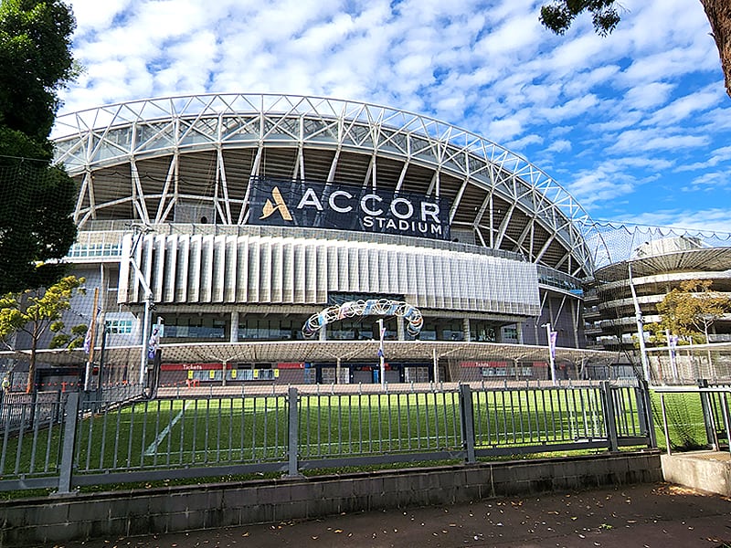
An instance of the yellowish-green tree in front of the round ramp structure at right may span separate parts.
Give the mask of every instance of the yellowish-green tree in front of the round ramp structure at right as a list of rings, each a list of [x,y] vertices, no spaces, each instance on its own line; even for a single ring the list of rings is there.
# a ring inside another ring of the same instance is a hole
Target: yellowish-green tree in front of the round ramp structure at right
[[[713,323],[731,312],[731,298],[711,290],[712,284],[709,279],[687,279],[665,295],[657,305],[662,331],[669,330],[688,341],[709,342],[708,330]]]

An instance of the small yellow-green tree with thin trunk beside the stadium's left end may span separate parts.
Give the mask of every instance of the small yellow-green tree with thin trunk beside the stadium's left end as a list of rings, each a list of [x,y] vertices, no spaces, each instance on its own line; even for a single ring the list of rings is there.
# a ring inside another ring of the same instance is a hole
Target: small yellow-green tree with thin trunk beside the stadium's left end
[[[11,341],[13,335],[26,333],[30,339],[27,393],[35,389],[36,355],[41,338],[49,331],[55,332],[57,335],[51,341],[51,347],[72,347],[79,344],[81,333],[86,332],[85,325],[78,325],[71,328],[69,335],[61,320],[63,312],[69,310],[74,294],[84,293],[81,289],[84,281],[83,278],[67,276],[47,290],[7,293],[0,298],[0,340],[6,347],[15,350],[15,344]]]

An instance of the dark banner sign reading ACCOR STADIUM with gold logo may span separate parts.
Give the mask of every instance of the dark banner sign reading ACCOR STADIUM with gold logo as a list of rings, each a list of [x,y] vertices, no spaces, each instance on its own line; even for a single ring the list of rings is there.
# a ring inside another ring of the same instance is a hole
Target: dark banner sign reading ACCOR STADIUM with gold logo
[[[249,224],[334,228],[450,239],[444,198],[350,184],[257,179],[249,188]]]

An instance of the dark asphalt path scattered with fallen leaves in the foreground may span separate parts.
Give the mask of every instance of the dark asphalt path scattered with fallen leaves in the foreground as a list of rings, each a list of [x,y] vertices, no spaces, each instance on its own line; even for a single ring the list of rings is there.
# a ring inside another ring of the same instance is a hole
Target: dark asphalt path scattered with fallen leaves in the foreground
[[[658,483],[61,546],[731,548],[731,499]]]

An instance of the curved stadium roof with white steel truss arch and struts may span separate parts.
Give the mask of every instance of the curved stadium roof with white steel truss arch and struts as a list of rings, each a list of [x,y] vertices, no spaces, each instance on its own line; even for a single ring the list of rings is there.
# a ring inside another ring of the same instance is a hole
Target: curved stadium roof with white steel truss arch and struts
[[[553,178],[480,135],[408,111],[296,95],[189,95],[64,114],[52,137],[56,162],[79,180],[79,227],[171,222],[175,205],[196,200],[225,224],[245,224],[251,180],[314,177],[448,196],[452,227],[476,245],[576,277],[594,268],[584,234],[594,223]]]

